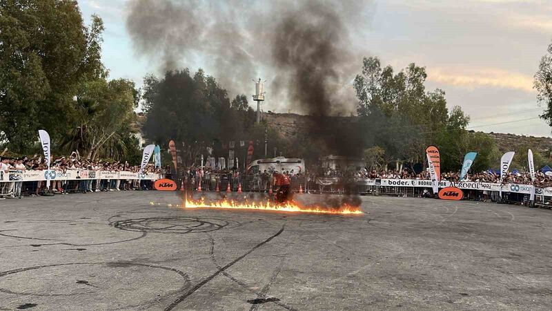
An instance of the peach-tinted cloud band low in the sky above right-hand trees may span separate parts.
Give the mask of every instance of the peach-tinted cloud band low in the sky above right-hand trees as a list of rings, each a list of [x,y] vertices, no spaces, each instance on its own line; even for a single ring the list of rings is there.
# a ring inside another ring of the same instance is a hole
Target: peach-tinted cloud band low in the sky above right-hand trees
[[[500,68],[478,68],[455,70],[455,68],[427,68],[428,81],[463,88],[509,88],[534,93],[533,77],[513,73]]]

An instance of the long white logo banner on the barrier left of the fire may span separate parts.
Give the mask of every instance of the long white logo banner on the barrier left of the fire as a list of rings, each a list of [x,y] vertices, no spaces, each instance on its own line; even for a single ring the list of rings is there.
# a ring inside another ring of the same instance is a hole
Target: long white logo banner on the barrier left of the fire
[[[89,179],[146,179],[158,180],[161,176],[157,173],[135,173],[132,171],[10,171],[0,176],[0,182],[31,182],[43,180],[89,180]]]

